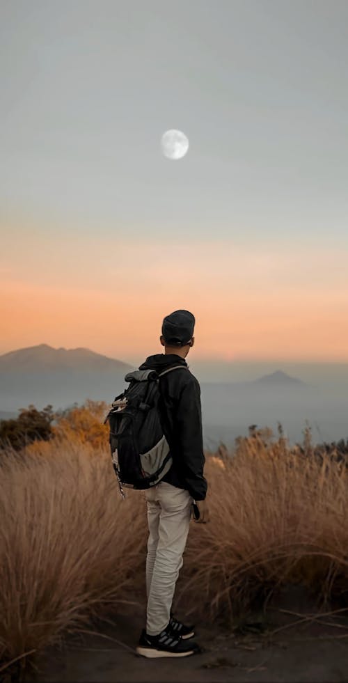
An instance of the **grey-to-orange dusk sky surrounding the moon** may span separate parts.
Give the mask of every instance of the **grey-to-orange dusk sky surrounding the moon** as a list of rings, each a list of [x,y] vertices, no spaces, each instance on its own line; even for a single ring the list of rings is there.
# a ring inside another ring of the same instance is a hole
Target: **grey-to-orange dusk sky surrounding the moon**
[[[197,363],[347,363],[347,26],[341,0],[3,0],[0,353],[141,362],[186,308]]]

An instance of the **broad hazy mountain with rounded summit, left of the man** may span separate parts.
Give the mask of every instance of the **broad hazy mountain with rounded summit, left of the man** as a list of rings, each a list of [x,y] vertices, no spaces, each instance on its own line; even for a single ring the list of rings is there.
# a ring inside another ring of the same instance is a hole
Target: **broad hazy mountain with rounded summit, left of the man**
[[[128,363],[85,347],[55,349],[48,344],[0,356],[0,411],[17,411],[33,403],[54,409],[86,398],[111,402],[127,386]]]

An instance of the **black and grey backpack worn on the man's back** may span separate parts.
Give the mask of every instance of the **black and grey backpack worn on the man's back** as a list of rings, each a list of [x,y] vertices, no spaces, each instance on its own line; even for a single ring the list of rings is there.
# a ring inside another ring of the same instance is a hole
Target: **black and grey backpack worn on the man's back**
[[[104,424],[109,421],[111,458],[123,498],[123,486],[149,489],[171,468],[173,461],[158,409],[159,377],[179,368],[187,366],[173,366],[160,373],[128,372],[125,382],[129,386],[111,403]]]

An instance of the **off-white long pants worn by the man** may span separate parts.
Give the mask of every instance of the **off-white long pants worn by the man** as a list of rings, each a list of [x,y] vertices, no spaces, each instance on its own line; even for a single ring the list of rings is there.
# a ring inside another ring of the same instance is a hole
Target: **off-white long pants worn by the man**
[[[160,481],[145,489],[148,506],[146,631],[157,636],[168,625],[175,583],[184,560],[193,498],[186,489]]]

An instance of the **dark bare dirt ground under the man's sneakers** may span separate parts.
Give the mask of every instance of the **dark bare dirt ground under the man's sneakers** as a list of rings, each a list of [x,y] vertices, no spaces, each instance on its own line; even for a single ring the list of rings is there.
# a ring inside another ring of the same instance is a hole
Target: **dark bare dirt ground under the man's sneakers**
[[[335,610],[337,607],[335,608]],[[182,659],[145,659],[135,652],[143,604],[125,606],[91,634],[65,638],[37,662],[37,683],[335,683],[348,681],[348,612],[319,615],[300,592],[278,595],[265,614],[238,629],[196,621],[203,652]],[[314,614],[314,616],[313,616]],[[182,609],[176,611],[183,619]],[[306,616],[304,616],[306,615]],[[190,621],[190,620],[189,620]],[[191,620],[192,621],[192,620]]]

